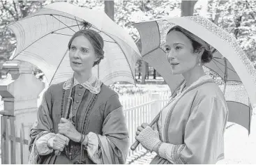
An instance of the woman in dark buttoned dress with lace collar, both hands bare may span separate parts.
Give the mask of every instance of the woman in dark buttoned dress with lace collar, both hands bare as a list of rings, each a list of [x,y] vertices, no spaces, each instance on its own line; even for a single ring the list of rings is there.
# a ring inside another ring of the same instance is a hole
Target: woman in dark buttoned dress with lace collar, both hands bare
[[[119,97],[91,72],[104,57],[103,44],[91,29],[70,39],[73,78],[45,92],[31,128],[30,164],[126,162],[128,130]]]

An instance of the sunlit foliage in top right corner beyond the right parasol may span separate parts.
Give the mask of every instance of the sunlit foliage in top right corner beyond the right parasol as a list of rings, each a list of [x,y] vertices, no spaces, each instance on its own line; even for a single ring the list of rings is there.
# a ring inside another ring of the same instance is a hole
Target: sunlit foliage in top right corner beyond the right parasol
[[[256,60],[256,1],[209,1],[209,13],[218,26],[233,33],[250,61]]]

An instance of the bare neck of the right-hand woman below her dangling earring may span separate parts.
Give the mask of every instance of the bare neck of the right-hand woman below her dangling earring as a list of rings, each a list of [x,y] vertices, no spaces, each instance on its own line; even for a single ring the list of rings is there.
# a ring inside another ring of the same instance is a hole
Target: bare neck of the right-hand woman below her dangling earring
[[[184,72],[183,77],[186,81],[186,86],[190,86],[193,82],[197,81],[200,77],[206,75],[202,66],[196,66],[188,72]]]

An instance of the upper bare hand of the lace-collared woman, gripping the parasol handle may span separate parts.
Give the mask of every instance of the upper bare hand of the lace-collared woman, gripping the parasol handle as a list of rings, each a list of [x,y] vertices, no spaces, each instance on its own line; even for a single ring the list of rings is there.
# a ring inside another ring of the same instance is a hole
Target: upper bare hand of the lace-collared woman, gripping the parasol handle
[[[58,125],[59,134],[63,134],[68,137],[68,139],[79,142],[81,139],[80,132],[77,132],[73,123],[66,118],[61,118],[61,121]]]

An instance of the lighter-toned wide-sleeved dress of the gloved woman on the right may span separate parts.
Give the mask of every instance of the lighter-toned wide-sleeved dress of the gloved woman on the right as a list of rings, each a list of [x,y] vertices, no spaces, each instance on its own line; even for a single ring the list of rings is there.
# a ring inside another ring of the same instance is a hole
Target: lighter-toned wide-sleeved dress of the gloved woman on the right
[[[183,89],[160,113],[163,143],[151,164],[216,164],[224,158],[225,97],[209,76]]]

